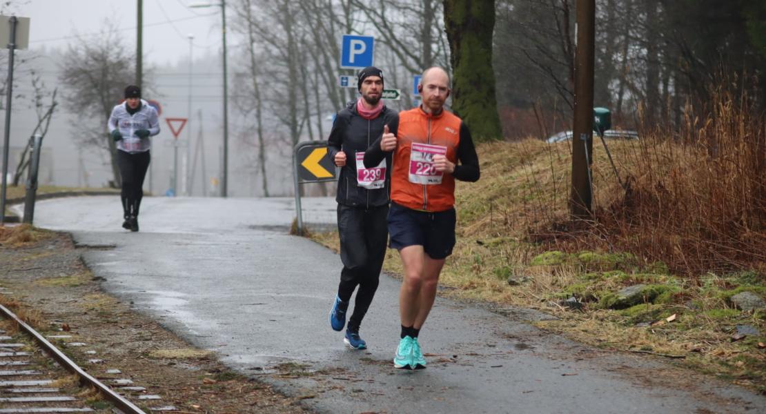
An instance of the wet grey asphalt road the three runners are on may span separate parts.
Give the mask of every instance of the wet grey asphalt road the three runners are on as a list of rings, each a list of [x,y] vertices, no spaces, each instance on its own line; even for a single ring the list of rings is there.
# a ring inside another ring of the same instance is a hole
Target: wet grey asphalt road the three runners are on
[[[334,220],[332,200],[303,204],[307,222]],[[142,230],[129,233],[117,197],[78,197],[42,201],[34,218],[101,246],[83,258],[106,291],[319,412],[764,412],[766,398],[747,390],[539,331],[524,323],[535,312],[442,298],[421,333],[428,369],[394,370],[398,282],[381,276],[362,325],[369,349],[343,347],[327,322],[339,256],[286,234],[292,208],[286,198],[147,197]],[[280,364],[306,372],[277,375]]]

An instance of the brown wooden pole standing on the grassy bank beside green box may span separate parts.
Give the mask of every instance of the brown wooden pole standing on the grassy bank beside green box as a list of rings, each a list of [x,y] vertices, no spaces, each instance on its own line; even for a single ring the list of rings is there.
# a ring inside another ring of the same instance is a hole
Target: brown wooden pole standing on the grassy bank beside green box
[[[573,219],[592,216],[593,193],[593,66],[595,0],[577,2],[575,52],[575,122],[572,131],[572,184],[569,210]]]

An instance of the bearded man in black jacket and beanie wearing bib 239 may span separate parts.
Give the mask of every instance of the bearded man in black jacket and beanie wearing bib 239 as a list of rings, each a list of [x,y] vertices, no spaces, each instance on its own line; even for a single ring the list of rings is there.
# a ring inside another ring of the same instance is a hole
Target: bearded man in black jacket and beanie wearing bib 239
[[[359,73],[358,90],[362,96],[338,112],[327,140],[330,158],[341,167],[336,200],[343,262],[329,321],[332,329],[343,329],[351,296],[359,286],[343,341],[349,347],[365,349],[359,325],[378,289],[388,241],[391,153],[375,168],[365,168],[364,155],[365,149],[383,134],[383,127],[397,122],[398,114],[381,102],[383,72],[377,67]]]

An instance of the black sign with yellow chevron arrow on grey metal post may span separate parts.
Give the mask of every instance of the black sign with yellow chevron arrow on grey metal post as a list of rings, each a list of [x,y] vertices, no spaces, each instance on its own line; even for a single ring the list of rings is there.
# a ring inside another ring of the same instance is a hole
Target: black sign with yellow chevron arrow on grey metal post
[[[335,163],[327,155],[326,141],[299,142],[293,149],[293,183],[298,234],[303,236],[303,212],[300,207],[300,184],[336,181]]]

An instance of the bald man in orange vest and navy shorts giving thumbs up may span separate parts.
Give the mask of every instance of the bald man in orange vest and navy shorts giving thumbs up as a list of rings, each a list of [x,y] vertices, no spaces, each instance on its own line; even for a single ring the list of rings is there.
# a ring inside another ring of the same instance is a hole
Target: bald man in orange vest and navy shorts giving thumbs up
[[[399,292],[401,334],[394,367],[426,367],[417,337],[430,308],[444,261],[455,245],[455,180],[477,181],[479,158],[470,131],[444,110],[450,77],[440,67],[423,73],[418,85],[422,103],[399,113],[394,125],[365,152],[372,167],[393,151],[389,246],[398,249],[404,266]]]

